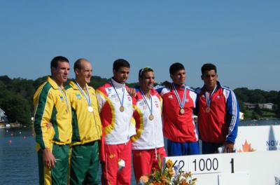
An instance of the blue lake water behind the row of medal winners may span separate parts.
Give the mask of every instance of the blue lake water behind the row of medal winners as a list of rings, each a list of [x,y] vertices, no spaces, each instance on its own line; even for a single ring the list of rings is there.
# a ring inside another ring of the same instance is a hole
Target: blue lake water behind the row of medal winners
[[[247,125],[280,125],[280,121],[240,123],[240,126]],[[30,128],[0,129],[0,185],[2,184],[38,184],[37,154]],[[132,184],[136,184],[133,172]]]

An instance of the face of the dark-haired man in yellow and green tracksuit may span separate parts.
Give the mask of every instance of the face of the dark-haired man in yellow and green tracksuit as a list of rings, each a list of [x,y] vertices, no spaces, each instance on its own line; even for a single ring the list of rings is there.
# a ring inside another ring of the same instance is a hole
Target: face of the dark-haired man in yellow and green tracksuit
[[[57,63],[57,68],[52,67],[52,78],[58,85],[62,85],[67,81],[69,71],[70,71],[70,66],[69,62],[65,61],[59,61]]]

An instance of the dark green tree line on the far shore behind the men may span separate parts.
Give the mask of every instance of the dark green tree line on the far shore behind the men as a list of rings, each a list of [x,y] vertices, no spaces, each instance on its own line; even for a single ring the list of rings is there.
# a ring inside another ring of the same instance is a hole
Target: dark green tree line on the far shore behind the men
[[[0,76],[0,108],[6,112],[10,123],[18,122],[23,125],[31,125],[31,117],[34,111],[33,95],[46,78],[47,76],[43,76],[34,81],[25,78],[12,79],[8,76]],[[96,89],[108,80],[108,78],[92,76],[90,85]],[[133,87],[137,83],[127,85]],[[258,108],[248,110],[244,107],[244,102],[273,103],[274,107],[270,112],[274,117],[280,118],[280,91],[249,90],[248,88],[236,88],[234,91],[239,100],[240,110],[245,113],[246,118],[260,118],[264,111]]]

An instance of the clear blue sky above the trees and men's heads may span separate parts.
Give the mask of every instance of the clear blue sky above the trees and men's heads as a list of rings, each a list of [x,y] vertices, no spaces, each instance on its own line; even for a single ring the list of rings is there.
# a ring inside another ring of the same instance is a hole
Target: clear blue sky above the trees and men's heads
[[[93,75],[109,78],[113,61],[141,67],[156,81],[169,66],[186,67],[186,84],[199,87],[202,64],[218,67],[230,88],[280,90],[280,1],[0,1],[0,76],[36,79],[50,60],[85,57]],[[278,85],[277,85],[278,84]]]

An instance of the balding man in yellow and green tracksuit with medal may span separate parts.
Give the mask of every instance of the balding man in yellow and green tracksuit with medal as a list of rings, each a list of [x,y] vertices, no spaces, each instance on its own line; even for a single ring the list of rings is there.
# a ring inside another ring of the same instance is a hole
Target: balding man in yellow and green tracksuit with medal
[[[87,85],[92,76],[92,65],[79,59],[74,64],[74,71],[76,78],[66,87],[73,126],[70,184],[98,184],[102,125],[95,90]]]

